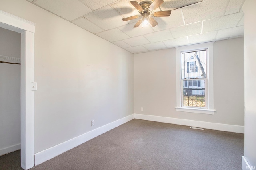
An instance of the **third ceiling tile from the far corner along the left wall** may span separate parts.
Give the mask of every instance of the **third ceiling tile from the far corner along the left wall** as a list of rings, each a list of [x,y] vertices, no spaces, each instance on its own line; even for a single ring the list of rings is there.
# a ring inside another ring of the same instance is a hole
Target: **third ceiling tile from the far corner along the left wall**
[[[101,33],[97,33],[99,37],[102,37],[103,39],[106,39],[110,42],[119,41],[122,39],[130,38],[128,35],[120,31],[119,29],[110,29]]]

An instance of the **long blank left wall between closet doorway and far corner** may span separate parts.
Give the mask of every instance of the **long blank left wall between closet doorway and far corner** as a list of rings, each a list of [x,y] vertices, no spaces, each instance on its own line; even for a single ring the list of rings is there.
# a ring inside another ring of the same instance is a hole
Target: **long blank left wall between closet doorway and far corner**
[[[25,0],[0,10],[36,24],[35,153],[133,114],[132,53]]]

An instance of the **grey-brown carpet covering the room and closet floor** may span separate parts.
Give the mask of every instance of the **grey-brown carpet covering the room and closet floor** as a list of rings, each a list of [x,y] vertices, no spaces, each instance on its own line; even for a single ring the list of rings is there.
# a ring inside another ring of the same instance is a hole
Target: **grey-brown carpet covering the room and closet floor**
[[[133,119],[31,170],[241,170],[243,155],[244,134]]]

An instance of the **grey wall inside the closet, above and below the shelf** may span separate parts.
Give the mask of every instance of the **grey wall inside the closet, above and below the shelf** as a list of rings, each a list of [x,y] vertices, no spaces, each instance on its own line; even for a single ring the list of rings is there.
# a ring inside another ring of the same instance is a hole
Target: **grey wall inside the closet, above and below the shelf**
[[[20,33],[0,28],[0,55],[20,58]],[[0,63],[0,155],[18,149],[20,149],[20,65]]]

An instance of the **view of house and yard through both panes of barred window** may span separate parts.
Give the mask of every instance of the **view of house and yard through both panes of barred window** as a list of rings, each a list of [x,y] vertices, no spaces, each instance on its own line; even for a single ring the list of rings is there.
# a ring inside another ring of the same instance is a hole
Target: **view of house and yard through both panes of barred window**
[[[206,108],[206,49],[181,54],[182,106]]]

